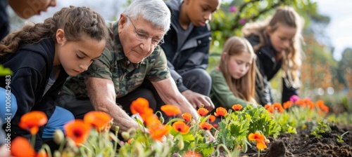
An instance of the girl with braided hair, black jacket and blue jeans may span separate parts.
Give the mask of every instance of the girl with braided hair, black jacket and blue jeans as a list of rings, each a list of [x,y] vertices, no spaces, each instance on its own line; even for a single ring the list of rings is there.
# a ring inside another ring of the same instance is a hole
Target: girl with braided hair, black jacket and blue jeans
[[[74,117],[70,111],[56,107],[54,100],[66,78],[86,71],[101,55],[107,40],[101,15],[90,8],[75,6],[62,8],[43,23],[26,25],[6,36],[0,44],[0,64],[13,74],[1,76],[0,87],[17,100],[17,104],[11,104],[11,109],[15,105],[17,111],[12,111],[12,119],[3,125],[4,130],[11,125],[6,134],[11,134],[11,139],[17,136],[29,139],[30,132],[21,129],[18,123],[30,111],[43,111],[49,119],[37,133],[36,150],[42,146],[42,137],[50,138],[54,130],[62,130],[63,124]],[[0,107],[6,108],[3,102]]]

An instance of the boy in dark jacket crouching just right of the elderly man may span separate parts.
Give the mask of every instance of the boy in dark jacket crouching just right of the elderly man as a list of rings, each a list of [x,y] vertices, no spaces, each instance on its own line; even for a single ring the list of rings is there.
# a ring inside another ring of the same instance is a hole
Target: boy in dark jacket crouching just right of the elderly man
[[[161,45],[168,58],[168,67],[177,88],[196,108],[214,109],[208,97],[211,78],[208,67],[212,14],[221,0],[171,0],[171,27]]]

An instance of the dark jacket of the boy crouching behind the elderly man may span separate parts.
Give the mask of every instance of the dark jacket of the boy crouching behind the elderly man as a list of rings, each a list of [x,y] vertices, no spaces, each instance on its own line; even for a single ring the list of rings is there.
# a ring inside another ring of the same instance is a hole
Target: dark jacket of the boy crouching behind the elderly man
[[[171,11],[170,30],[165,34],[161,48],[168,58],[168,67],[172,78],[176,81],[180,92],[187,90],[182,83],[182,72],[189,69],[208,67],[209,48],[211,41],[210,25],[194,27],[182,45],[177,44],[177,23],[179,22],[181,0],[166,2]]]

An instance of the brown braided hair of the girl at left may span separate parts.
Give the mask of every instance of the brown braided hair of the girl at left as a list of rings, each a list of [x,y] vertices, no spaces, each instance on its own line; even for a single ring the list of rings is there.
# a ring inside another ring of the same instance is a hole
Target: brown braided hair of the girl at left
[[[62,8],[54,13],[52,18],[47,18],[43,23],[25,25],[19,31],[6,36],[0,44],[0,55],[13,53],[22,44],[31,44],[43,39],[56,41],[57,29],[63,29],[67,41],[80,41],[89,36],[96,41],[108,39],[105,21],[95,11],[87,7]]]

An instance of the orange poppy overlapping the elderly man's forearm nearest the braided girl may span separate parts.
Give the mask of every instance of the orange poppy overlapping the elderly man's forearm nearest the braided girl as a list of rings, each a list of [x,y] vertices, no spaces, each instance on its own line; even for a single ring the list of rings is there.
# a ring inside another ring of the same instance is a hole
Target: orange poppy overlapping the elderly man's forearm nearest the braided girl
[[[91,124],[99,132],[101,130],[110,129],[110,123],[112,120],[113,118],[103,111],[89,111],[83,118],[85,123]]]

